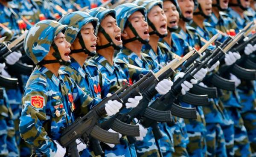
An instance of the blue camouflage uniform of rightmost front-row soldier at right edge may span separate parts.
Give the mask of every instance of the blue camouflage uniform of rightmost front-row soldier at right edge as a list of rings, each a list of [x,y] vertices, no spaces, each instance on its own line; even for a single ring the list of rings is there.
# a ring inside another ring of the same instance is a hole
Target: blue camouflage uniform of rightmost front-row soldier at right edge
[[[249,12],[244,12],[244,18],[242,18],[237,12],[233,9],[228,9],[228,14],[236,22],[238,29],[243,29],[247,23],[254,20],[254,17]],[[246,84],[251,84],[247,86]],[[245,128],[241,131],[247,130],[248,138],[244,137],[244,140],[249,140],[250,148],[252,155],[256,156],[256,111],[255,111],[255,102],[256,102],[256,93],[253,89],[253,82],[241,80],[241,84],[238,87],[239,97],[241,99],[241,116],[244,121]],[[241,138],[237,138],[238,142],[241,141]],[[242,142],[241,142],[242,143]],[[245,151],[238,151],[237,154],[241,155],[248,150],[248,146],[244,145]],[[247,151],[247,153],[249,153]]]

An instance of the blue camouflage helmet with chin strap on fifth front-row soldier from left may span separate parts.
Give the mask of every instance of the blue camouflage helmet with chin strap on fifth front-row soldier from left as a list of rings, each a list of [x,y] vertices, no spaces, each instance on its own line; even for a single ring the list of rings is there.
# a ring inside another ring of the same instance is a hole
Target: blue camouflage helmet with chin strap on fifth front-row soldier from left
[[[147,9],[147,12],[150,12],[151,9],[154,8],[154,6],[160,6],[160,8],[163,9],[163,1],[161,0],[135,0],[134,3],[137,4],[138,6],[144,6]],[[147,17],[147,20],[148,20],[148,25],[153,29],[152,32],[149,32],[149,35],[156,34],[160,38],[164,38],[167,36],[167,33],[164,35],[160,34],[155,28],[154,24],[148,19],[148,17]]]

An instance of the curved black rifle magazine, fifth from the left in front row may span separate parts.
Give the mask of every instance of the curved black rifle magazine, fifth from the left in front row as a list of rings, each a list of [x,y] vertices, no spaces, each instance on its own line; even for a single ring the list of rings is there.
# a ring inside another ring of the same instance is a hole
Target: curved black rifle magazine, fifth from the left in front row
[[[181,95],[178,98],[181,102],[186,102],[195,106],[207,106],[210,105],[207,95],[196,95],[187,92],[185,95]]]

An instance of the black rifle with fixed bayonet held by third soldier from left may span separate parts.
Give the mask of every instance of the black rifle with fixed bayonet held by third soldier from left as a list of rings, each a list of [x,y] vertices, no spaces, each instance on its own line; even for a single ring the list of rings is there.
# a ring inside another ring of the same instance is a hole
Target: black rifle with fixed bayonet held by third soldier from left
[[[233,47],[234,44],[236,44],[236,42],[241,38],[241,36],[237,36],[236,38],[234,38],[234,40],[232,42],[230,42],[230,44],[228,44],[224,50],[221,49],[220,47],[216,48],[212,54],[204,60],[204,62],[201,61],[196,61],[192,67],[190,67],[188,70],[186,70],[185,75],[183,76],[183,78],[178,78],[173,86],[172,89],[163,96],[160,96],[159,98],[157,98],[152,105],[150,106],[151,108],[154,108],[156,110],[172,110],[172,108],[176,107],[177,105],[174,105],[175,100],[177,99],[177,96],[180,95],[181,93],[181,84],[184,81],[189,81],[192,78],[194,78],[193,76],[201,69],[204,67],[212,67],[213,64],[215,64],[215,62],[217,62],[218,60],[215,59],[216,55],[219,53],[219,51],[223,51],[223,52],[227,52],[231,47]],[[219,50],[220,49],[220,50]],[[220,52],[220,53],[223,53]],[[209,64],[210,60],[215,60],[215,62],[212,62],[211,64]],[[196,114],[194,115],[194,117],[196,118]],[[144,125],[145,127],[150,127],[150,126],[154,126],[155,121],[149,118],[142,118],[140,120],[141,124]],[[159,135],[159,134],[154,134],[154,135]],[[160,138],[160,137],[156,137],[156,138]]]

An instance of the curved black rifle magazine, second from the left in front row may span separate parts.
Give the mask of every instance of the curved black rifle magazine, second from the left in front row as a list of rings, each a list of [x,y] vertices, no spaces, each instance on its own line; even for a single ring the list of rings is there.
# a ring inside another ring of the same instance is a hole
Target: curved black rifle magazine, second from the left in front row
[[[133,137],[140,136],[140,129],[138,125],[130,125],[130,124],[121,122],[118,119],[115,119],[113,121],[111,128],[122,135],[133,136]]]

